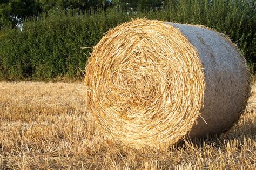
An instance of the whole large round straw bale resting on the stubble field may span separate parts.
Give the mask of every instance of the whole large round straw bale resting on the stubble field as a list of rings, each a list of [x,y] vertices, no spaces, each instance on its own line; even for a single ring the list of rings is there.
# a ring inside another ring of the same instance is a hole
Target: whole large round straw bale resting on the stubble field
[[[133,147],[169,146],[186,135],[228,130],[245,108],[249,79],[245,59],[219,33],[137,19],[95,46],[86,104],[107,137]]]

